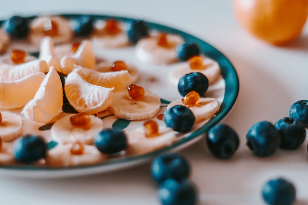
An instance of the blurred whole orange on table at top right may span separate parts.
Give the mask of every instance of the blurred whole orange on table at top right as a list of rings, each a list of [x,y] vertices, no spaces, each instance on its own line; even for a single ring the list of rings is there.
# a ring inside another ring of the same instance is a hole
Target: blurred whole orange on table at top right
[[[308,0],[233,0],[233,11],[251,34],[283,45],[301,33],[308,16]]]

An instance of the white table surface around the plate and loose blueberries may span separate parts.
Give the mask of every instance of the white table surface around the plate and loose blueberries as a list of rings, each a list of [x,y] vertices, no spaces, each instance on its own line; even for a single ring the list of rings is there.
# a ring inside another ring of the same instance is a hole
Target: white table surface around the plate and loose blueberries
[[[141,18],[186,31],[224,53],[240,79],[237,102],[224,123],[240,136],[230,160],[214,159],[203,139],[180,152],[190,162],[191,179],[201,205],[263,204],[262,184],[276,176],[292,181],[297,205],[308,204],[307,141],[296,151],[278,150],[257,158],[245,146],[245,135],[257,121],[275,123],[288,116],[292,103],[308,99],[308,23],[290,45],[274,47],[242,30],[230,0],[10,0],[2,2],[0,18],[13,14],[96,13]],[[150,164],[112,173],[70,179],[14,179],[0,176],[0,204],[157,205]]]

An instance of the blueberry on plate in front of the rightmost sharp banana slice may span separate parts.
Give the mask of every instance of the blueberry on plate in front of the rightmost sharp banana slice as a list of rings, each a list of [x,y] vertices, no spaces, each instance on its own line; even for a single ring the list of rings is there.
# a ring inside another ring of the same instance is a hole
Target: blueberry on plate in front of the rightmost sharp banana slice
[[[193,127],[195,116],[189,108],[175,105],[164,112],[164,122],[177,132],[187,132]]]

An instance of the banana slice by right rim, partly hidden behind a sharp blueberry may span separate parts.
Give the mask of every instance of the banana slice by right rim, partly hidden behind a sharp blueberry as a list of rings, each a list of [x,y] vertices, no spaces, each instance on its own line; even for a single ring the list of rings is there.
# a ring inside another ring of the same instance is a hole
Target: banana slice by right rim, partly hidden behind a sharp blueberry
[[[168,104],[167,109],[172,108],[174,105],[184,105],[181,100],[176,100]],[[219,111],[220,106],[214,98],[200,97],[199,102],[195,106],[187,106],[195,116],[195,124],[204,120],[208,120]]]

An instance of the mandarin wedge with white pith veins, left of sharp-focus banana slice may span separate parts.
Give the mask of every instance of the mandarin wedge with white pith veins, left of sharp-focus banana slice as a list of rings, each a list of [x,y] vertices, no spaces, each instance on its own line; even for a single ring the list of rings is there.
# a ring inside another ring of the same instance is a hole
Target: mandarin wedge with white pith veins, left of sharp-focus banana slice
[[[67,100],[78,112],[95,114],[113,102],[113,89],[92,85],[75,72],[67,75],[64,90]]]

